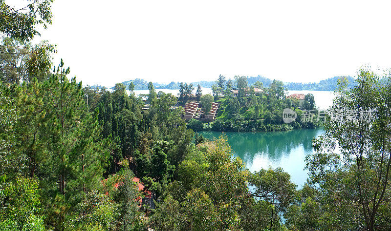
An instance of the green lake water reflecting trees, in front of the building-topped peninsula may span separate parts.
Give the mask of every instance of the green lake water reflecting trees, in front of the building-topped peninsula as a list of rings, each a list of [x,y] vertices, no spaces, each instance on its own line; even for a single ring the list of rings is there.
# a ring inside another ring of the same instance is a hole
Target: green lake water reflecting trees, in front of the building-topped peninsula
[[[323,128],[318,128],[287,132],[226,132],[225,134],[234,156],[239,156],[251,172],[270,166],[281,167],[291,175],[291,180],[300,189],[308,177],[307,171],[304,170],[305,155],[313,152],[312,139],[323,133]],[[202,131],[199,134],[213,140],[221,133]]]

